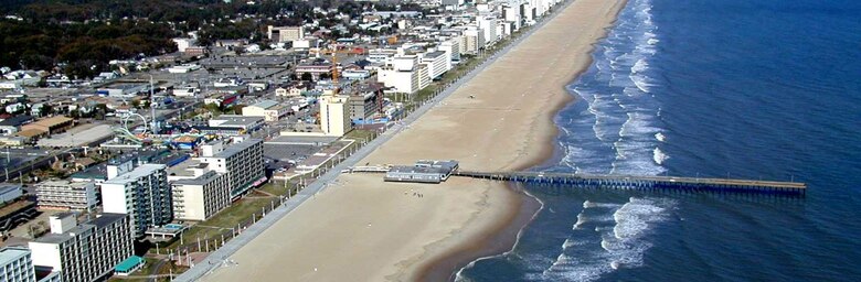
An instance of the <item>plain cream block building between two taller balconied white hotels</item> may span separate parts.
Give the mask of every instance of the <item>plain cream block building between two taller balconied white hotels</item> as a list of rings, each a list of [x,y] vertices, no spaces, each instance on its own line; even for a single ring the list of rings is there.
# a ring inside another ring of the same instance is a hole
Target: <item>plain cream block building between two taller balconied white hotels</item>
[[[181,220],[206,220],[231,205],[227,174],[209,171],[195,178],[171,183],[173,217]]]

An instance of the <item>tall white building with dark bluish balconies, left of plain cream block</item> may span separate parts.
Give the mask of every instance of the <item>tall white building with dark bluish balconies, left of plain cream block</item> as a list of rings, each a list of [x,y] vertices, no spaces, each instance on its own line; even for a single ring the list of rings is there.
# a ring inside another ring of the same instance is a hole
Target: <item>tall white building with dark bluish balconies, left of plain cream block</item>
[[[104,212],[129,215],[136,237],[169,224],[173,213],[166,170],[163,164],[142,164],[100,183]]]

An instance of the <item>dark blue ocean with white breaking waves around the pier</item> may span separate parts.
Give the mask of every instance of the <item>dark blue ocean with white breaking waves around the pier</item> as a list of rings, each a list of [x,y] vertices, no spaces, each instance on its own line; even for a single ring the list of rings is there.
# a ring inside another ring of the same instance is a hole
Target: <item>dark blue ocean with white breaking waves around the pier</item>
[[[576,31],[572,31],[576,32]],[[799,181],[802,199],[528,187],[464,281],[861,281],[861,1],[630,0],[536,170]]]

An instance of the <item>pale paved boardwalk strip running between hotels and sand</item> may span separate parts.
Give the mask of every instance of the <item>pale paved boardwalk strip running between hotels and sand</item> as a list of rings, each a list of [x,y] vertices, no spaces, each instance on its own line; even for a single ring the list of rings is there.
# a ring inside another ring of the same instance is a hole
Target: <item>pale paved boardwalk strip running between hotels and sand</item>
[[[370,141],[368,144],[362,147],[362,149],[357,151],[353,155],[347,158],[343,162],[332,167],[332,170],[325,173],[317,181],[308,185],[306,188],[301,189],[298,194],[293,196],[290,199],[287,199],[281,206],[277,207],[276,209],[267,214],[266,217],[264,217],[256,224],[248,227],[248,229],[242,232],[238,237],[234,238],[233,240],[230,240],[222,248],[212,252],[212,254],[206,257],[204,261],[198,263],[189,271],[185,271],[184,273],[179,275],[174,281],[194,281],[202,278],[203,275],[211,273],[217,268],[236,267],[235,262],[230,260],[230,256],[233,256],[233,253],[238,251],[243,246],[245,246],[251,240],[253,240],[254,238],[263,234],[263,231],[265,231],[270,226],[275,225],[275,223],[280,220],[284,216],[288,215],[290,212],[299,207],[299,205],[305,203],[305,200],[313,197],[315,194],[318,194],[321,191],[326,189],[328,184],[332,183],[332,181],[334,181],[338,177],[338,175],[341,174],[342,170],[347,170],[350,166],[357,165],[359,161],[361,161],[362,159],[371,154],[373,151],[376,150],[376,148],[387,142],[395,134],[397,134],[398,132],[407,128],[416,119],[418,119],[428,110],[431,110],[431,108],[435,107],[440,100],[450,96],[453,93],[455,93],[455,90],[460,88],[460,86],[475,78],[476,75],[478,75],[485,67],[488,67],[490,64],[496,62],[499,57],[508,53],[511,48],[522,43],[523,40],[532,35],[535,31],[540,30],[546,22],[550,21],[550,19],[553,19],[559,14],[557,11],[563,10],[570,3],[571,1],[564,3],[562,7],[557,9],[554,9],[553,15],[551,15],[550,18],[545,18],[538,25],[534,25],[532,29],[530,29],[528,33],[525,33],[523,36],[518,37],[514,42],[512,42],[504,48],[500,50],[496,54],[491,54],[487,61],[478,65],[475,69],[467,73],[465,76],[457,79],[448,88],[446,88],[446,90],[442,91],[436,98],[431,99],[428,102],[417,108],[414,112],[410,113],[410,116],[403,119],[401,122],[396,122],[395,126],[393,126],[390,130],[380,134],[380,137],[378,137],[373,141]]]

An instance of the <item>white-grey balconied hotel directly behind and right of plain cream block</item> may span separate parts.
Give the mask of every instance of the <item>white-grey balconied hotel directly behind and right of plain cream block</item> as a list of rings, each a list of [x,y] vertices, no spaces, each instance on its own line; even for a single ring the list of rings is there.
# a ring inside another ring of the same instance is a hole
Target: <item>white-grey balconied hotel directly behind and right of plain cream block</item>
[[[266,181],[261,139],[248,139],[223,150],[203,145],[200,161],[206,163],[210,170],[227,174],[231,199],[238,198]]]

